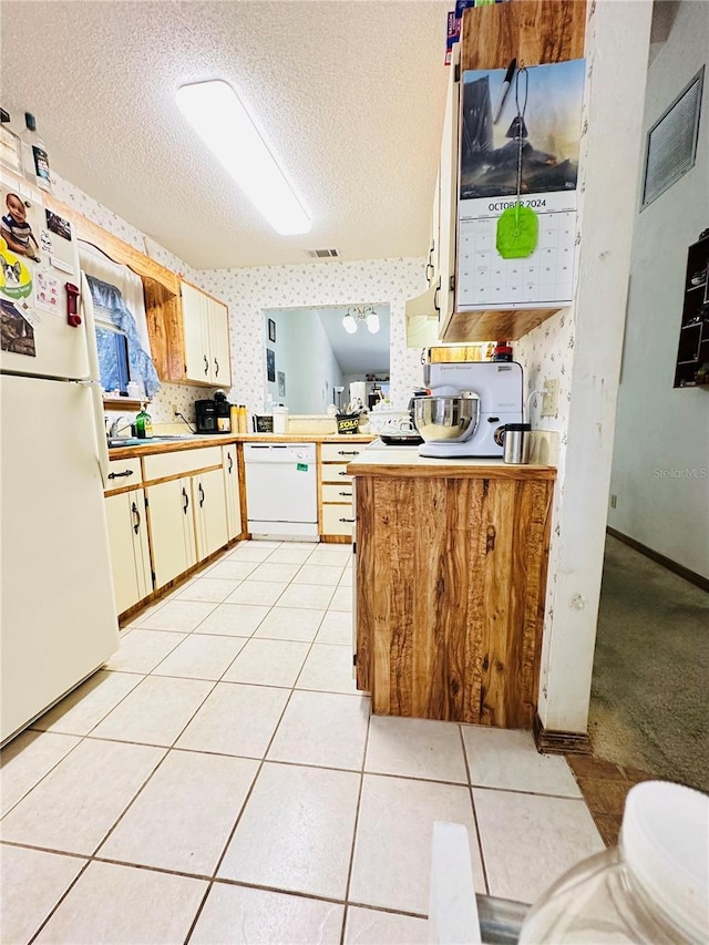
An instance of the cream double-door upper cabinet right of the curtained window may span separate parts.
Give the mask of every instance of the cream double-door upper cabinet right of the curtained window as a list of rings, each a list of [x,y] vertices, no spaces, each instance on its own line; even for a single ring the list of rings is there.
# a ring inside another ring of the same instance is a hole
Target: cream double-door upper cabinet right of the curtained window
[[[189,283],[182,283],[185,380],[212,387],[232,386],[227,307]]]

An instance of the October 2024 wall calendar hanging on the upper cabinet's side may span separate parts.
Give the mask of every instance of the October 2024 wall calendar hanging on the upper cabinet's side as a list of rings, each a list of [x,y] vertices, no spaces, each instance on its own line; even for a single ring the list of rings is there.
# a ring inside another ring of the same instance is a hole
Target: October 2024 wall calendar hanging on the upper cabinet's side
[[[584,60],[463,73],[458,311],[571,304],[584,75]],[[499,220],[517,199],[536,242],[505,258]]]

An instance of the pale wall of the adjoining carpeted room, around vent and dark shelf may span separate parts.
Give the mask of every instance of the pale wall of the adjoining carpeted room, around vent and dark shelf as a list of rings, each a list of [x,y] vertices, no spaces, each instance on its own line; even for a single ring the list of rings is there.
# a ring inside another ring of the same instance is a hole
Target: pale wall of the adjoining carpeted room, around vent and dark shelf
[[[678,3],[669,38],[649,68],[646,131],[708,62],[708,51],[709,7]],[[614,528],[706,577],[709,391],[674,390],[672,382],[687,248],[708,226],[709,70],[697,163],[635,220],[610,482],[618,499],[608,512]]]

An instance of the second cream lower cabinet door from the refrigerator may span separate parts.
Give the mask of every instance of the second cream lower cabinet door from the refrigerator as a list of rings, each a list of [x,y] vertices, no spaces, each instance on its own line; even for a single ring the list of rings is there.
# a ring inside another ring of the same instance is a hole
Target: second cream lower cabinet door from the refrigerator
[[[173,479],[146,486],[145,493],[157,589],[197,563],[192,482]]]

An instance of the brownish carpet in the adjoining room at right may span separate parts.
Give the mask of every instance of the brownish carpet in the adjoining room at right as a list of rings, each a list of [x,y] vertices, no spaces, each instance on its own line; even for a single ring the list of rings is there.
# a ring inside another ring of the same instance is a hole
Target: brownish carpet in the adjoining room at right
[[[709,594],[606,540],[594,754],[709,792]]]

